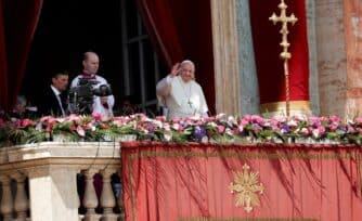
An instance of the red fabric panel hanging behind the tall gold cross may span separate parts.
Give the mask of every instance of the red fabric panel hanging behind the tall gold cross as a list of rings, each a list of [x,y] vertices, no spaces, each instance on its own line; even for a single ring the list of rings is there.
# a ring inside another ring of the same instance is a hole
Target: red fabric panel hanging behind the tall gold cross
[[[258,73],[260,104],[285,101],[285,80],[283,62],[280,58],[282,47],[281,23],[274,25],[269,17],[275,12],[280,0],[253,0],[250,18],[253,29],[254,50]],[[286,0],[287,16],[292,13],[298,22],[288,25],[289,60],[289,89],[290,101],[309,101],[309,52],[307,41],[307,21],[305,0]],[[261,6],[262,5],[262,6]]]

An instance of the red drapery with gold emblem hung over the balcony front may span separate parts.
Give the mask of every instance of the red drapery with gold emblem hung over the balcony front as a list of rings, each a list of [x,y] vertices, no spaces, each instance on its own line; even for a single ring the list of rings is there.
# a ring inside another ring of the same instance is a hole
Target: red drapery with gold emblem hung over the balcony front
[[[342,145],[122,143],[126,220],[358,221],[361,154]]]

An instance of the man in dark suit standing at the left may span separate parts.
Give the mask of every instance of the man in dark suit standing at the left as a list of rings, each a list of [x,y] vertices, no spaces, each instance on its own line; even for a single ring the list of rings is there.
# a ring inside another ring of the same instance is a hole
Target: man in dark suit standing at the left
[[[56,117],[67,115],[66,89],[69,75],[67,72],[55,73],[52,76],[52,83],[41,94],[41,102],[38,105],[40,116],[52,115]]]

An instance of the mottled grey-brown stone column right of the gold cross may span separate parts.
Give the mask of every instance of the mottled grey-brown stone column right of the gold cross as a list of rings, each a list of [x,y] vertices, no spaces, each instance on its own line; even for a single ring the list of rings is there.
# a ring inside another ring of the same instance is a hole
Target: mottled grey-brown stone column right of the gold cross
[[[321,115],[346,116],[347,54],[344,0],[315,1]]]

